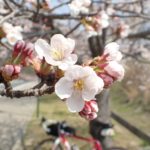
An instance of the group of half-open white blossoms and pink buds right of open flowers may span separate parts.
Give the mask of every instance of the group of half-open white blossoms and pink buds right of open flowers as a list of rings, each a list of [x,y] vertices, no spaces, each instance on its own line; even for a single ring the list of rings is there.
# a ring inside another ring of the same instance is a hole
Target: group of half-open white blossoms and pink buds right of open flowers
[[[124,77],[124,68],[119,63],[122,54],[119,45],[112,42],[105,46],[102,56],[97,57],[91,64],[95,66],[97,75],[103,79],[104,87],[110,87],[114,81],[121,81]]]

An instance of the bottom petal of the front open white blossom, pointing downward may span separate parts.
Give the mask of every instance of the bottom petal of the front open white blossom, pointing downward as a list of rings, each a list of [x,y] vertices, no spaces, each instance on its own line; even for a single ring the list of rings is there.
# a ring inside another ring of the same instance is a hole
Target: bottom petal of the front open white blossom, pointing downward
[[[84,100],[79,92],[74,92],[70,98],[66,100],[69,111],[80,112],[84,107]]]

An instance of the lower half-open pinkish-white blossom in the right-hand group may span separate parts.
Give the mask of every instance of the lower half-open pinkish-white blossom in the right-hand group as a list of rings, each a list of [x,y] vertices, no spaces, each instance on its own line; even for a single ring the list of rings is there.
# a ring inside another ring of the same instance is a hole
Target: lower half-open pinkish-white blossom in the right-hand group
[[[104,70],[115,80],[121,81],[124,77],[124,68],[116,61],[109,61]]]

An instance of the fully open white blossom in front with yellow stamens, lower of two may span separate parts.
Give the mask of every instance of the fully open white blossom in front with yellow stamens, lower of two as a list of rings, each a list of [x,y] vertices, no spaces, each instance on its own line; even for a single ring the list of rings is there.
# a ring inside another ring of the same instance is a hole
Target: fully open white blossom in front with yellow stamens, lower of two
[[[84,101],[95,98],[103,90],[104,82],[90,67],[74,65],[69,67],[55,85],[55,93],[61,99],[66,98],[71,112],[80,112]],[[64,88],[65,87],[65,88]]]

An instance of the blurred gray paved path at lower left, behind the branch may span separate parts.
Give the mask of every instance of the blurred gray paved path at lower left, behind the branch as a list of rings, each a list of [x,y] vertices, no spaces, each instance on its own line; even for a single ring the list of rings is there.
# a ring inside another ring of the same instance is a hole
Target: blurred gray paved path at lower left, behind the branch
[[[35,84],[36,82],[25,83],[15,89],[26,89]],[[35,108],[35,97],[0,97],[0,150],[22,150],[21,138]]]

